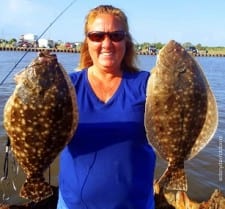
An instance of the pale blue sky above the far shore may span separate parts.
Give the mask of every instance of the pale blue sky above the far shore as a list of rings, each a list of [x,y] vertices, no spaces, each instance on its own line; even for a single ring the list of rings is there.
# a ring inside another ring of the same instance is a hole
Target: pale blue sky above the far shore
[[[122,9],[135,43],[225,46],[225,0],[0,0],[0,38],[17,40],[33,33],[63,42],[84,39],[84,18],[100,4]]]

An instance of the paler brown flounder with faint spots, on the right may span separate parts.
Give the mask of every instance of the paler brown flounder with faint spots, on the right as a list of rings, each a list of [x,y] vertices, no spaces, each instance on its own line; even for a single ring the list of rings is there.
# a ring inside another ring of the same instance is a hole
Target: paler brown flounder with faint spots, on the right
[[[215,97],[194,57],[170,41],[159,52],[147,86],[147,138],[168,167],[157,183],[187,191],[184,161],[212,139],[218,123]]]

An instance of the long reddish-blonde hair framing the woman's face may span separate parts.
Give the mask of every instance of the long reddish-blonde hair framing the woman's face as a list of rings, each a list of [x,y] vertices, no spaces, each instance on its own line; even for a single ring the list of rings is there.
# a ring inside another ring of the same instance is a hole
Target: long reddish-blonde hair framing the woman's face
[[[132,37],[129,33],[129,26],[127,17],[124,14],[122,10],[119,8],[113,7],[111,5],[100,5],[88,13],[88,15],[85,18],[85,25],[84,25],[84,33],[85,33],[85,39],[81,46],[81,55],[80,55],[80,63],[78,68],[84,69],[87,67],[90,67],[93,65],[93,61],[91,59],[91,56],[88,51],[88,44],[87,44],[87,33],[89,25],[92,24],[92,22],[95,20],[95,18],[99,14],[110,14],[117,17],[121,23],[123,24],[124,31],[127,33],[126,36],[126,51],[124,58],[121,63],[121,69],[129,72],[136,72],[138,71],[138,67],[136,65],[137,61],[137,54],[134,48],[134,43],[132,41]]]

